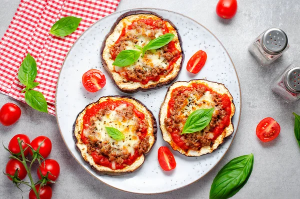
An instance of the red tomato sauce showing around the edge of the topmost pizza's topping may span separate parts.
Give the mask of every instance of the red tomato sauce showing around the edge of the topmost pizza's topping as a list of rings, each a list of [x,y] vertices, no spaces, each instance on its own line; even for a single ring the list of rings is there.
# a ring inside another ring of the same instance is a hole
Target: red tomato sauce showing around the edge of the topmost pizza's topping
[[[125,36],[125,34],[126,34],[126,29],[127,29],[127,30],[131,30],[132,27],[133,27],[137,22],[142,22],[142,23],[144,23],[145,25],[150,26],[152,29],[162,29],[162,33],[163,33],[163,34],[169,33],[169,29],[168,29],[168,27],[166,26],[166,21],[163,21],[163,20],[152,20],[152,19],[139,19],[139,20],[136,20],[136,21],[132,22],[132,24],[131,24],[130,26],[128,26],[127,28],[124,27],[124,28],[122,29],[122,32],[121,32],[119,38],[116,40],[115,44],[119,43],[120,38],[123,37],[123,36]],[[163,23],[162,28],[158,26],[158,23],[159,23],[159,22],[162,22],[162,23]],[[176,49],[176,47],[175,47],[175,42],[174,42],[174,41],[171,41],[171,42],[168,43],[167,51],[168,51],[168,52],[174,52],[174,51],[177,51],[177,52],[178,52],[178,53],[176,54],[176,56],[175,56],[172,60],[169,61],[169,65],[168,65],[167,71],[168,71],[168,73],[170,73],[170,72],[172,71],[173,64],[176,63],[176,61],[179,59],[179,57],[180,57],[181,54],[180,54],[179,50]],[[115,58],[116,58],[116,56],[117,56],[117,55],[115,54],[115,52],[116,52],[116,51],[115,51],[114,48],[112,48],[112,49],[110,50],[110,56],[111,56],[111,59],[112,59],[112,60],[115,60]],[[147,77],[145,80],[141,80],[141,81],[140,81],[140,80],[137,80],[137,79],[129,78],[127,75],[125,75],[125,78],[126,78],[127,81],[140,82],[141,84],[147,84],[150,80],[152,80],[152,81],[154,81],[154,82],[159,81],[159,79],[160,79],[160,77],[161,77],[162,75],[165,75],[165,73],[164,73],[164,72],[161,72],[161,73],[159,73],[159,74],[157,74],[157,75],[155,75],[155,76]]]

